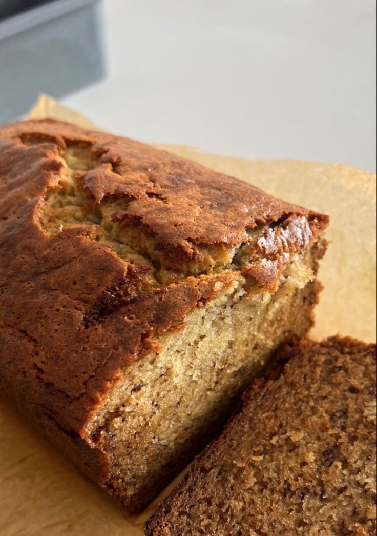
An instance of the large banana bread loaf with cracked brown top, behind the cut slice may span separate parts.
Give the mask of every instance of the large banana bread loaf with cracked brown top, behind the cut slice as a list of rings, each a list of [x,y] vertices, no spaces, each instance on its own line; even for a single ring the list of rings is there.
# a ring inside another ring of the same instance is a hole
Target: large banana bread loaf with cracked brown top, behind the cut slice
[[[130,512],[312,325],[327,217],[52,120],[0,129],[2,392]]]

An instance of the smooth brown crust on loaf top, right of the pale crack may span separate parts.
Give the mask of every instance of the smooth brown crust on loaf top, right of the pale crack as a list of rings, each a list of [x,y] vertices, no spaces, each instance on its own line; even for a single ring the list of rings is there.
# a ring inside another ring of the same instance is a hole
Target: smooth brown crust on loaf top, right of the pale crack
[[[110,196],[127,200],[126,210],[117,211],[114,220],[152,235],[156,250],[174,269],[200,262],[201,248],[236,247],[248,241],[247,230],[292,214],[314,220],[314,227],[327,221],[251,184],[127,138],[51,120],[16,123],[1,129],[0,136],[38,136],[51,150],[55,144],[89,146],[97,166],[81,177],[82,188],[95,203]]]

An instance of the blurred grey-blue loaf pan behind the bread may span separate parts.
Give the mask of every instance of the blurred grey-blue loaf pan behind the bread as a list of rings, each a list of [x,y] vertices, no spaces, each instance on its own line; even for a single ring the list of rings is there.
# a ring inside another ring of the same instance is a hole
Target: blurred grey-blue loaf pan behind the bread
[[[102,0],[39,4],[0,20],[0,124],[105,74]]]

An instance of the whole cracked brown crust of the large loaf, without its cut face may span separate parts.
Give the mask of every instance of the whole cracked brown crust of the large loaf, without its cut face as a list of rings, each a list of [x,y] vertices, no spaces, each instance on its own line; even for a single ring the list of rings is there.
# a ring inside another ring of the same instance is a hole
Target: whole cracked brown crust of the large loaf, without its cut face
[[[327,217],[133,140],[0,129],[2,374],[67,430],[240,273],[274,290]]]

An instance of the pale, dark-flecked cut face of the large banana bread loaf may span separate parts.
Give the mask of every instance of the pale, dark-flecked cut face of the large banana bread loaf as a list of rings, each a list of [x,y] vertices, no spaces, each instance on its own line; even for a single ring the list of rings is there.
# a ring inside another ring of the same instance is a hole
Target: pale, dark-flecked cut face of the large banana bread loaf
[[[110,492],[129,511],[148,502],[200,451],[274,349],[312,325],[319,245],[286,267],[278,290],[248,295],[240,277],[160,337],[159,353],[127,368],[91,422],[111,453]],[[89,433],[89,430],[88,430]]]

